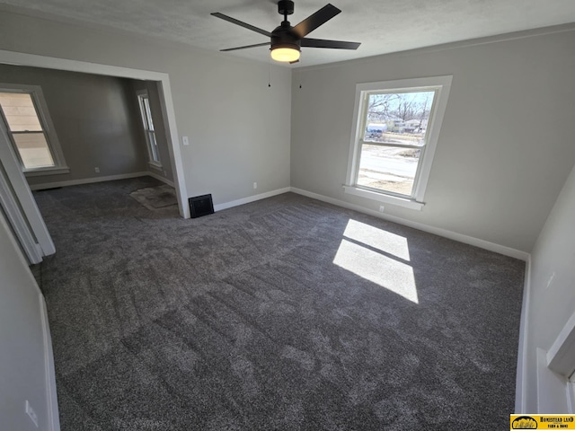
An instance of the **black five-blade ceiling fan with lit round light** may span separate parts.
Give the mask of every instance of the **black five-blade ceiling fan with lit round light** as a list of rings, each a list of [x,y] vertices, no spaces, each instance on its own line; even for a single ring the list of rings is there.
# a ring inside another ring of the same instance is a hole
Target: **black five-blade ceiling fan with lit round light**
[[[330,21],[335,15],[341,13],[341,10],[332,4],[326,4],[322,9],[316,13],[305,18],[304,21],[297,24],[295,27],[288,22],[288,15],[294,13],[294,2],[291,0],[279,0],[278,13],[284,15],[284,21],[281,22],[279,27],[274,31],[265,31],[254,27],[251,24],[242,22],[227,16],[224,13],[212,13],[213,16],[232,22],[245,29],[256,31],[264,36],[270,38],[269,42],[256,43],[254,45],[246,45],[244,47],[220,49],[221,51],[234,51],[236,49],[264,47],[270,45],[271,58],[276,61],[283,61],[289,63],[296,63],[299,61],[301,47],[306,48],[334,48],[334,49],[357,49],[358,42],[345,42],[343,40],[322,40],[306,38],[307,34],[311,33],[325,22]]]

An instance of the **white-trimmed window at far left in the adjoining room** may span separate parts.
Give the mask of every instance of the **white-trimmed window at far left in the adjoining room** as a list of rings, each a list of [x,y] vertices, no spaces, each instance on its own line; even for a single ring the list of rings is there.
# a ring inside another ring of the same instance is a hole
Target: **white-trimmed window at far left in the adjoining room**
[[[39,86],[0,84],[0,120],[27,176],[70,172]]]

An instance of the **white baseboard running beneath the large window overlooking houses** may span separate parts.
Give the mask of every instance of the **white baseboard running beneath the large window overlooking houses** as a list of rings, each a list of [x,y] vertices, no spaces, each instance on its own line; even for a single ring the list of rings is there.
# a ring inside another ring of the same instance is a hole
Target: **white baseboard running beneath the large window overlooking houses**
[[[475,247],[479,247],[480,249],[494,251],[496,253],[503,254],[505,256],[509,256],[510,258],[520,259],[520,260],[527,260],[529,257],[529,253],[526,251],[519,251],[515,249],[511,249],[510,247],[506,247],[504,245],[496,244],[494,242],[488,242],[484,240],[480,240],[479,238],[473,238],[473,236],[467,236],[463,233],[456,233],[452,231],[447,231],[447,229],[441,229],[440,227],[430,226],[429,224],[422,224],[418,222],[412,222],[411,220],[405,220],[400,217],[396,216],[389,216],[386,214],[382,214],[378,211],[374,211],[372,209],[367,209],[365,207],[360,207],[358,205],[350,204],[349,202],[345,202],[343,200],[329,198],[327,196],[319,195],[317,193],[297,189],[295,187],[290,188],[291,191],[297,193],[298,195],[303,195],[308,198],[314,198],[317,200],[321,200],[323,202],[327,202],[328,204],[337,205],[338,207],[344,207],[353,209],[360,213],[368,214],[369,216],[376,216],[379,218],[383,218],[384,220],[388,220],[390,222],[394,222],[397,224],[403,224],[405,226],[412,227],[414,229],[419,229],[423,232],[434,233],[438,236],[443,236],[444,238],[448,238],[450,240],[454,240],[457,242],[464,242],[465,244],[470,244]]]

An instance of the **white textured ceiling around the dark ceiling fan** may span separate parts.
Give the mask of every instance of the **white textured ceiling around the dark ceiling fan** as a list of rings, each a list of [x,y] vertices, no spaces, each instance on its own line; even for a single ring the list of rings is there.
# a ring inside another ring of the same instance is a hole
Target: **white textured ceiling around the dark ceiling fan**
[[[301,62],[312,66],[358,57],[422,48],[575,22],[574,0],[331,0],[343,12],[310,33],[310,38],[361,42],[357,51],[302,48]],[[328,0],[296,0],[292,25]],[[217,51],[265,42],[265,36],[210,16],[220,12],[272,31],[282,17],[273,0],[0,0],[46,13],[146,33]],[[267,47],[226,53],[268,61]],[[293,67],[293,66],[292,66]]]

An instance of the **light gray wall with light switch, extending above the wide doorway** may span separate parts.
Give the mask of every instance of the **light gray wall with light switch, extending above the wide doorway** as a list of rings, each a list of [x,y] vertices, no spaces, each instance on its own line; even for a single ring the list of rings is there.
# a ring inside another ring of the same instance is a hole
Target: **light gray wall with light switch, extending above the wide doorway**
[[[22,34],[26,37],[22,38]],[[0,49],[170,75],[188,196],[214,203],[289,186],[290,69],[0,11]],[[252,184],[258,182],[258,189]]]

